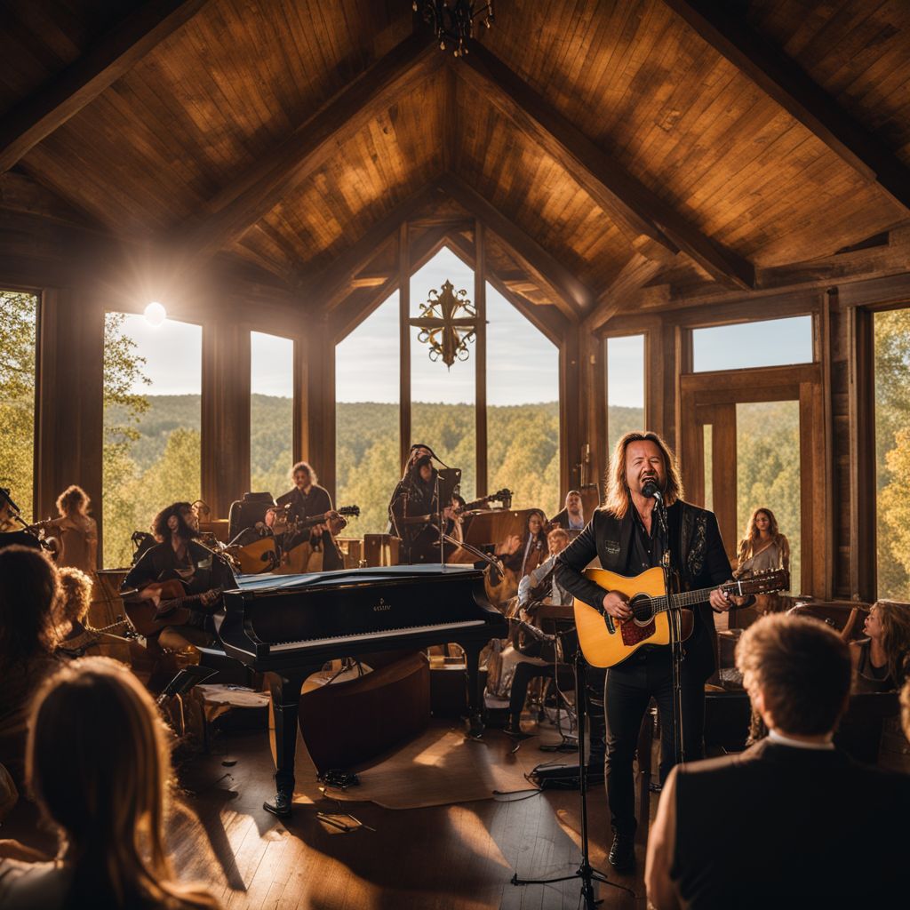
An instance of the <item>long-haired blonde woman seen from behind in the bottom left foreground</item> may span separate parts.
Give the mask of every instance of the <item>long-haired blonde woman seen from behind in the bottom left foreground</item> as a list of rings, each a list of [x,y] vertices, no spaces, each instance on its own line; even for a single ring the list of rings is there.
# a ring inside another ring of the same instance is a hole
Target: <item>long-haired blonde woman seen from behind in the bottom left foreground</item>
[[[27,777],[60,850],[53,862],[0,859],[0,906],[220,906],[177,884],[167,858],[166,735],[151,697],[115,661],[84,658],[45,682],[32,705]],[[0,856],[27,855],[0,841]]]

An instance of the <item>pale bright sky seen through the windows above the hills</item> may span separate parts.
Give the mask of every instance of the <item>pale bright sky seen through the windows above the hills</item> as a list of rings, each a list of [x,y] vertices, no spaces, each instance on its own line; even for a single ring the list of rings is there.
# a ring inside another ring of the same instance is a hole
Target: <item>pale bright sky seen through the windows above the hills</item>
[[[449,279],[456,290],[473,297],[468,268],[443,249],[411,277],[411,313],[430,288]],[[399,295],[396,291],[336,349],[339,401],[397,402],[399,399]],[[524,319],[490,284],[487,285],[487,399],[490,405],[529,404],[559,398],[559,353],[549,339]],[[202,375],[202,329],[175,319],[154,328],[140,315],[127,315],[123,329],[147,359],[151,386],[135,391],[151,395],[198,394]],[[447,369],[430,361],[429,349],[411,329],[411,399],[446,403],[474,401],[474,346],[467,361]],[[643,337],[609,339],[608,400],[612,405],[642,407],[644,401]],[[251,333],[251,388],[264,395],[290,396],[293,342]],[[772,319],[740,325],[695,329],[694,369],[765,367],[812,360],[812,320]]]

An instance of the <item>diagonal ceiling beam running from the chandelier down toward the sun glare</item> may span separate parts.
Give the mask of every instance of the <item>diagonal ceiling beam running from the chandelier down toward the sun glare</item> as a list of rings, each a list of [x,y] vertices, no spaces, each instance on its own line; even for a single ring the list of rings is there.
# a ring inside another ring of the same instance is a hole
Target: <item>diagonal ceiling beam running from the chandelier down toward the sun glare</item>
[[[351,136],[442,66],[438,48],[411,35],[334,96],[291,136],[207,205],[210,215],[179,241],[184,266],[240,237]]]

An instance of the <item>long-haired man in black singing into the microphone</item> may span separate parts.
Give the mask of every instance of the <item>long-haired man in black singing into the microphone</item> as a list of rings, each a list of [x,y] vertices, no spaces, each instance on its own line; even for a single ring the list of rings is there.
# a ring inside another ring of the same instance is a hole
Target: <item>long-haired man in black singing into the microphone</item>
[[[579,600],[617,620],[632,616],[619,591],[604,591],[581,572],[594,557],[602,568],[626,576],[661,564],[669,543],[673,569],[684,590],[711,588],[730,578],[713,512],[682,501],[679,468],[657,433],[626,433],[616,443],[610,462],[607,500],[588,526],[556,561],[556,581]],[[656,498],[655,498],[656,494]],[[655,511],[666,508],[669,541]],[[711,592],[710,607],[694,608],[694,629],[683,642],[682,735],[686,761],[703,758],[704,682],[714,670],[714,611],[730,609],[722,591]],[[615,634],[622,634],[616,622]],[[589,671],[591,676],[596,671]],[[632,759],[642,717],[655,699],[661,716],[661,782],[674,762],[672,653],[665,645],[644,645],[606,673],[607,797],[612,817],[610,862],[619,871],[635,863],[635,795]]]

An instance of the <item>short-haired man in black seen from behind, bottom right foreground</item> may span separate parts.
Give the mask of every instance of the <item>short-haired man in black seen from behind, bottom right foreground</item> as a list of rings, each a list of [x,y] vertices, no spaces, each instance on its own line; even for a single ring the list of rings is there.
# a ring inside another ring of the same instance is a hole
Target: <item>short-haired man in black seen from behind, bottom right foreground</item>
[[[847,646],[824,623],[774,614],[736,655],[770,733],[745,752],[673,769],[648,841],[657,910],[906,905],[910,777],[834,747]]]

